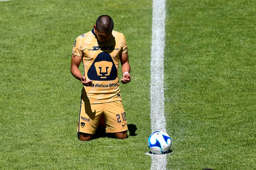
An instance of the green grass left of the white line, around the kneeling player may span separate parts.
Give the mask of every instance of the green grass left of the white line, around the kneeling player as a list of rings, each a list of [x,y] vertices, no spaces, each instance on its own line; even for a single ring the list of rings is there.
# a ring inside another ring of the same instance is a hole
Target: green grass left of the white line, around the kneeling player
[[[150,80],[140,75],[150,72],[151,30],[144,28],[151,27],[151,2],[0,3],[0,169],[150,168]],[[70,74],[71,51],[102,14],[113,18],[128,44],[132,82],[121,91],[134,128],[125,140],[81,142],[76,123],[82,86]]]

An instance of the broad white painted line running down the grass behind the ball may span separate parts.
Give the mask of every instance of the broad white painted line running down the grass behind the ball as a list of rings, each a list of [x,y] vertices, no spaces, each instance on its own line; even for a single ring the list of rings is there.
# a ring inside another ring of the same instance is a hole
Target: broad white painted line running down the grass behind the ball
[[[153,0],[150,118],[151,130],[166,132],[164,117],[165,0]],[[151,170],[166,169],[166,155],[151,154]]]

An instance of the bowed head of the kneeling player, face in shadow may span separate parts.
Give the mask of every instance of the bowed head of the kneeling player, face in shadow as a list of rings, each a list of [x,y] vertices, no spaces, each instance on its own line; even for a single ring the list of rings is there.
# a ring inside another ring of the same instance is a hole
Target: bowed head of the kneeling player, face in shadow
[[[96,20],[96,24],[93,26],[94,32],[100,42],[108,41],[112,35],[114,28],[114,22],[108,15],[101,15]]]

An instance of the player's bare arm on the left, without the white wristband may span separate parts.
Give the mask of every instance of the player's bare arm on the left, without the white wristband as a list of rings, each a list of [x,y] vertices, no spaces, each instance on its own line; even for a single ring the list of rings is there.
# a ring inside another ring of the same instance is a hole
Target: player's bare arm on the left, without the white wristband
[[[92,85],[92,80],[87,81],[85,76],[82,76],[82,74],[79,70],[79,65],[80,65],[81,61],[82,61],[82,57],[72,54],[70,72],[76,79],[81,81],[81,83],[83,85],[91,86]]]

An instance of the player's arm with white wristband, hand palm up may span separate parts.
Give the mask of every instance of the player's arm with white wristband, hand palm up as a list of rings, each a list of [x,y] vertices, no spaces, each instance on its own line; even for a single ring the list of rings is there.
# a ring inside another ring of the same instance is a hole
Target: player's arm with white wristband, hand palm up
[[[123,84],[127,84],[132,79],[131,75],[130,75],[131,66],[130,66],[130,63],[129,63],[128,53],[120,54],[119,59],[120,59],[121,65],[122,65],[122,73],[123,73],[123,78],[121,79],[121,82]]]

